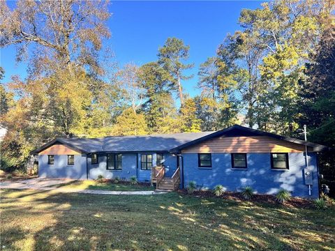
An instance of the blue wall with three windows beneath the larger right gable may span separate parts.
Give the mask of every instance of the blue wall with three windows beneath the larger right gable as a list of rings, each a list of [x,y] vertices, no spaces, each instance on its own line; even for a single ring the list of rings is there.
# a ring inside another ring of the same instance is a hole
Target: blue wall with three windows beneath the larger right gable
[[[251,185],[258,193],[276,194],[284,188],[293,196],[308,197],[304,185],[304,153],[289,153],[289,170],[271,169],[269,153],[248,153],[247,169],[232,169],[230,153],[212,153],[212,168],[198,168],[198,154],[184,153],[184,181],[195,181],[197,185],[214,188],[221,184],[227,190],[237,191]],[[312,197],[318,197],[318,172],[315,153],[309,153],[309,167],[313,175]]]

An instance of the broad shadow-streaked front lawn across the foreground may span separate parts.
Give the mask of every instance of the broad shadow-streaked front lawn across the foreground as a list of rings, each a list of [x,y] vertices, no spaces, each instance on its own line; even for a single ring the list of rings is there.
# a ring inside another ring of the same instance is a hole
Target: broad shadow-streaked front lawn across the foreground
[[[175,192],[1,192],[1,250],[334,250],[335,209]]]

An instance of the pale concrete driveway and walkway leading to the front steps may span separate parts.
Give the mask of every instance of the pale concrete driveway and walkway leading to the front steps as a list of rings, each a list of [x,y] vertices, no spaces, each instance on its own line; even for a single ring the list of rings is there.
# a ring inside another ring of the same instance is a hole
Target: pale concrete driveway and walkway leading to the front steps
[[[108,191],[108,190],[91,190],[91,189],[73,189],[73,188],[55,188],[51,185],[68,183],[69,180],[50,179],[50,178],[31,178],[23,181],[3,181],[0,183],[0,189],[33,189],[66,193],[84,193],[91,195],[160,195],[165,191]]]

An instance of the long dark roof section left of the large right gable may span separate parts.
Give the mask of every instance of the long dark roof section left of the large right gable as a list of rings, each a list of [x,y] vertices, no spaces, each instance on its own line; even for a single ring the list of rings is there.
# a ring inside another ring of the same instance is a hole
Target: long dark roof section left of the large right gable
[[[109,136],[95,139],[57,138],[36,149],[33,153],[43,151],[55,142],[67,144],[84,153],[126,152],[126,151],[169,151],[213,132],[184,132],[160,135]]]

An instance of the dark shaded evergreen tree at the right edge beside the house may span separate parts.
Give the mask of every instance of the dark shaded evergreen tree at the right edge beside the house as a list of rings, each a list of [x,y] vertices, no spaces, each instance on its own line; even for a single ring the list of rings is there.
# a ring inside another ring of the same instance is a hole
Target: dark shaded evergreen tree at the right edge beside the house
[[[316,47],[313,61],[306,64],[306,79],[299,82],[299,126],[308,126],[308,140],[335,147],[335,25],[329,24]],[[335,153],[318,155],[320,183],[335,195]]]

